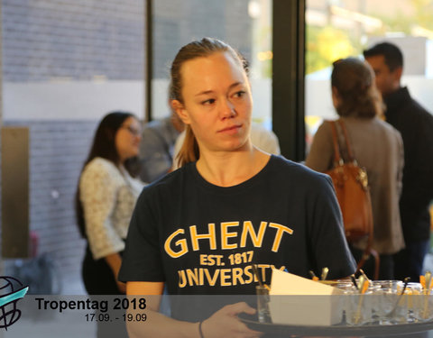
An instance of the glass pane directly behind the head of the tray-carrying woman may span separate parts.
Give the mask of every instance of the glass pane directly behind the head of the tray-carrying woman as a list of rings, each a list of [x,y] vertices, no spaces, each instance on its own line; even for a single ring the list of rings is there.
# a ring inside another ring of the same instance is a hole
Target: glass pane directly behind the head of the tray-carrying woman
[[[271,128],[272,0],[158,0],[153,8],[152,119],[169,115],[170,62],[203,37],[228,42],[251,65],[253,120]]]

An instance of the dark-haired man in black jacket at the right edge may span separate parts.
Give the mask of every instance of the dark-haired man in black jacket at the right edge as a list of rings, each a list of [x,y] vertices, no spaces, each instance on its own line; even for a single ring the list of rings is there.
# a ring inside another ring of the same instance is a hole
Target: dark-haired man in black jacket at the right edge
[[[419,105],[407,87],[401,87],[403,56],[392,43],[364,50],[376,86],[386,105],[386,121],[401,132],[404,145],[401,224],[406,247],[394,256],[395,277],[419,281],[429,249],[428,206],[433,199],[433,115]]]

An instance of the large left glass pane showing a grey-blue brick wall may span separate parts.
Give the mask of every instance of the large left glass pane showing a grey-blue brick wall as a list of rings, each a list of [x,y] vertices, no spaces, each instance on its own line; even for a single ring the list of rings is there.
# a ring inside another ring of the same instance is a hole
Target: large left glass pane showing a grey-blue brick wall
[[[145,2],[1,0],[0,10],[0,126],[29,130],[31,253],[50,255],[65,294],[83,294],[78,177],[102,116],[143,115]],[[5,257],[16,254],[0,258],[13,275],[23,261]]]

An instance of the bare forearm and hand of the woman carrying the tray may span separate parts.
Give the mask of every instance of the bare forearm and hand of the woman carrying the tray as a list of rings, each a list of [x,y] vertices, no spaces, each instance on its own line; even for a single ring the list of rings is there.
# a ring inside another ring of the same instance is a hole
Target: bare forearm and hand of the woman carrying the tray
[[[127,329],[129,336],[131,338],[200,338],[198,331],[199,323],[181,322],[158,313],[163,288],[163,282],[126,283],[126,294],[128,296],[145,295],[147,305],[147,319],[145,322],[128,322]],[[237,319],[237,315],[242,312],[253,315],[255,310],[247,306],[246,303],[224,306],[202,322],[203,338],[260,337],[261,333],[250,330]],[[134,315],[134,310],[129,309],[128,313]]]

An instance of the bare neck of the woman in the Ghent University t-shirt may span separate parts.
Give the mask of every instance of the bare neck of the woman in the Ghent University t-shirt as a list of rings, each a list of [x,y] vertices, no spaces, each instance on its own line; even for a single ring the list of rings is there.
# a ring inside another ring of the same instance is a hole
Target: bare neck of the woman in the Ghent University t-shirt
[[[219,187],[233,187],[253,178],[268,162],[270,155],[251,146],[245,151],[200,152],[199,174]]]

